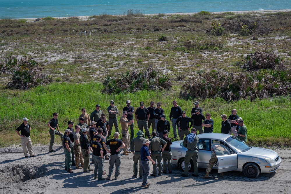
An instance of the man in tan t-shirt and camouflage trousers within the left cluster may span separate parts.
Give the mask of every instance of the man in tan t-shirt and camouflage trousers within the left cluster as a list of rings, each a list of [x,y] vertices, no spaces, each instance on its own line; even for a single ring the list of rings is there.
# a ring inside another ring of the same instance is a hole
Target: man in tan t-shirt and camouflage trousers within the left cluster
[[[73,149],[75,151],[75,163],[76,163],[76,168],[81,169],[84,166],[84,158],[83,154],[81,152],[81,144],[80,144],[80,137],[81,135],[79,134],[80,131],[80,125],[75,125],[75,134],[74,134],[74,146]],[[80,167],[80,162],[82,167]]]

